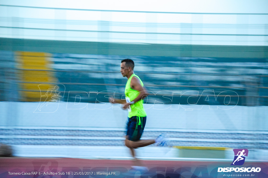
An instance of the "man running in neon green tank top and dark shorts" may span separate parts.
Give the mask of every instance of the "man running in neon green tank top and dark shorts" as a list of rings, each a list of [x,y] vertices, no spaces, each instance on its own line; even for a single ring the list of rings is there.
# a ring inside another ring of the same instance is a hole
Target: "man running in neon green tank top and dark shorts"
[[[146,124],[146,112],[143,108],[143,98],[148,95],[143,87],[142,80],[134,74],[134,62],[131,59],[121,61],[121,74],[127,77],[125,95],[126,99],[109,98],[110,103],[120,103],[124,106],[122,109],[128,109],[128,123],[125,145],[131,150],[135,166],[140,166],[136,158],[134,149],[158,143],[160,146],[166,146],[166,136],[161,134],[155,140],[141,140],[141,136]]]

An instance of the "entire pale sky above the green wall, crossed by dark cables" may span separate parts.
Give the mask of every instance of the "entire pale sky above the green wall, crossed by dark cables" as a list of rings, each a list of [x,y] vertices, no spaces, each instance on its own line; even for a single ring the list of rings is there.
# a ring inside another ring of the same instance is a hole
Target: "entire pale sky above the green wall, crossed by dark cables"
[[[100,12],[0,6],[0,37],[3,38],[268,46],[268,0],[0,0],[0,5],[146,12],[266,14]]]

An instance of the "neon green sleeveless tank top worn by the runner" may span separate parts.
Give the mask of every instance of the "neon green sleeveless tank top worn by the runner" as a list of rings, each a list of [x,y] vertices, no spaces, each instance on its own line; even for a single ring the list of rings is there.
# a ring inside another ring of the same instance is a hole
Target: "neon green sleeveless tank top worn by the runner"
[[[135,98],[139,96],[138,94],[139,91],[133,90],[130,87],[130,82],[133,76],[137,77],[140,80],[140,78],[137,75],[132,74],[129,77],[128,81],[126,82],[125,95],[126,95],[126,102],[128,103],[133,101]],[[140,84],[143,86],[142,80],[140,80]],[[139,116],[139,117],[146,116],[146,112],[143,108],[143,99],[134,103],[133,105],[130,105],[130,108],[128,109],[128,117],[132,117],[132,116]]]

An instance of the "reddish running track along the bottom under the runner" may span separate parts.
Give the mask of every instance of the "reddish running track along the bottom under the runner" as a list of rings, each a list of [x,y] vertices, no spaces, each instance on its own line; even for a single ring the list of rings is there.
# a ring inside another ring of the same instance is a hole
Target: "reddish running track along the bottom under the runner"
[[[150,176],[157,177],[178,177],[186,175],[203,175],[202,177],[217,177],[218,167],[232,167],[231,162],[211,162],[211,161],[163,161],[163,160],[142,160],[144,166],[148,168]],[[90,160],[78,158],[0,158],[0,178],[57,178],[57,177],[127,177],[131,169],[131,160]],[[242,166],[238,166],[242,167]],[[268,177],[268,162],[245,162],[243,167],[261,167],[262,171],[258,178]],[[116,172],[117,171],[117,172]],[[10,172],[10,173],[9,173]],[[22,175],[27,172],[28,175]],[[37,172],[35,175],[32,172]],[[51,173],[51,175],[39,175],[39,172]],[[93,175],[81,175],[85,173]],[[96,175],[99,172],[116,172],[116,176]],[[21,173],[14,175],[11,173]],[[56,175],[58,173],[58,175]],[[64,173],[64,175],[62,175]],[[70,175],[66,175],[70,173]],[[77,175],[73,175],[76,173]],[[79,175],[80,174],[80,175]],[[223,173],[221,173],[223,174]],[[205,175],[205,176],[204,176]],[[148,175],[147,175],[148,177]],[[185,177],[185,176],[183,176]],[[222,175],[221,175],[222,177]],[[244,176],[243,176],[244,177]],[[148,177],[150,178],[150,177]]]

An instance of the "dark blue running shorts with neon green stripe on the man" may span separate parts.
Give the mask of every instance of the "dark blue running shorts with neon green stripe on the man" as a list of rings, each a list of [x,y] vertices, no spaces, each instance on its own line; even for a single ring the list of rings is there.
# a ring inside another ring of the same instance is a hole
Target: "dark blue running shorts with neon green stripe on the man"
[[[138,141],[142,137],[142,133],[144,130],[144,126],[146,123],[146,116],[139,117],[139,116],[132,116],[131,118],[128,117],[127,123],[127,131],[126,131],[126,139],[131,141]]]

